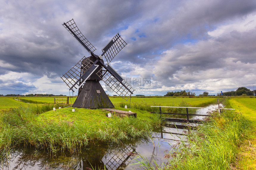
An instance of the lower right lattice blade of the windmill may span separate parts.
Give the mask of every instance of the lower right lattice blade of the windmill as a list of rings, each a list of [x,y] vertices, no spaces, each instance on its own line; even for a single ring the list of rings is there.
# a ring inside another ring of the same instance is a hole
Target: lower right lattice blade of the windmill
[[[127,83],[123,78],[121,78],[121,82],[119,82],[108,70],[103,70],[102,73],[97,72],[97,75],[103,77],[102,80],[111,90],[128,101],[130,95],[134,91],[129,83]],[[118,75],[118,77],[121,76]]]

